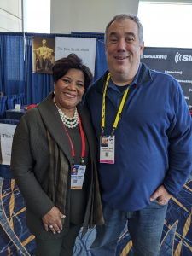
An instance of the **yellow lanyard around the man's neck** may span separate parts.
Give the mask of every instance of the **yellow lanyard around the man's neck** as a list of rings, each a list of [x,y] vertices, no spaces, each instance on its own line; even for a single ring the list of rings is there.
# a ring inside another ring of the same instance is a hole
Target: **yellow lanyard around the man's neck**
[[[111,77],[111,75],[110,75],[110,73],[108,73],[108,77],[107,77],[107,80],[105,83],[105,88],[104,88],[103,96],[102,96],[102,134],[104,133],[104,128],[105,128],[105,98],[106,98],[106,93],[107,93],[107,88],[108,88],[108,81],[109,81],[110,77]],[[119,116],[123,111],[128,90],[129,90],[129,87],[127,87],[127,89],[125,90],[124,96],[120,102],[118,113],[116,114],[116,118],[113,123],[113,132],[118,126]],[[112,132],[112,134],[113,134],[113,132]]]

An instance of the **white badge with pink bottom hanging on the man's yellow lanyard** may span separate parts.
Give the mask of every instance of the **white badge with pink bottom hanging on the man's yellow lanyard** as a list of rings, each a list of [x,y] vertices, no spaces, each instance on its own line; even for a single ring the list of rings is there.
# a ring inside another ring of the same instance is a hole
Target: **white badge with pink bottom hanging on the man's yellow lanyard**
[[[100,163],[114,164],[114,136],[100,137]]]

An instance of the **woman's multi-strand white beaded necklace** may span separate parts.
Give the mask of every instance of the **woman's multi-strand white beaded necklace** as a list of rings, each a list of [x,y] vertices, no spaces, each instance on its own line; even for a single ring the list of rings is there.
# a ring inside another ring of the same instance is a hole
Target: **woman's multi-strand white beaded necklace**
[[[75,128],[79,125],[79,115],[78,115],[77,108],[75,108],[75,113],[74,113],[73,118],[70,118],[65,113],[62,112],[61,108],[59,108],[56,105],[55,98],[54,98],[54,103],[55,103],[55,106],[60,114],[62,123],[64,125],[66,125],[67,128]]]

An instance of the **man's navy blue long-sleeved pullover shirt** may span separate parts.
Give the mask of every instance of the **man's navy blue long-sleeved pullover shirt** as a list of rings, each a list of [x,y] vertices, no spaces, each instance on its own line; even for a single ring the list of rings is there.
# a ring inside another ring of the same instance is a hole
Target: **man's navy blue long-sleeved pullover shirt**
[[[86,94],[98,142],[106,77],[107,73]],[[105,135],[112,132],[122,96],[109,82]],[[161,184],[176,194],[191,172],[191,129],[189,108],[177,80],[140,64],[114,133],[115,163],[99,165],[102,200],[119,210],[136,211],[150,203]]]

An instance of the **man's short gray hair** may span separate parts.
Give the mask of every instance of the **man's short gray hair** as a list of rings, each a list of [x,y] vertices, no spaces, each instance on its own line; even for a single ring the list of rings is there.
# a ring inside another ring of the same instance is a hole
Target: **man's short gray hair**
[[[138,19],[137,15],[126,15],[126,14],[121,14],[121,15],[116,15],[113,17],[113,19],[108,23],[108,25],[106,26],[105,29],[105,44],[107,41],[107,34],[108,34],[108,28],[109,26],[111,26],[111,24],[113,23],[113,21],[120,21],[120,20],[133,20],[138,27],[138,35],[139,35],[139,42],[143,43],[143,25],[140,22],[140,20]]]

